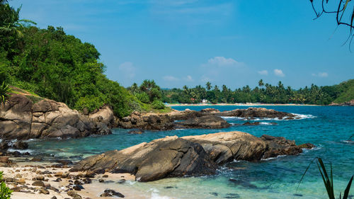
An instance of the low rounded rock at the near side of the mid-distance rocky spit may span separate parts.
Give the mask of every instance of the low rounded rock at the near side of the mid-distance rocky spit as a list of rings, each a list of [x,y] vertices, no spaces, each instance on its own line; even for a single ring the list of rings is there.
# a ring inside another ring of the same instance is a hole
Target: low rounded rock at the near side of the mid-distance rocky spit
[[[205,115],[198,118],[190,118],[182,122],[176,123],[177,127],[185,128],[226,128],[231,125],[227,123],[226,120],[215,116],[215,115]]]

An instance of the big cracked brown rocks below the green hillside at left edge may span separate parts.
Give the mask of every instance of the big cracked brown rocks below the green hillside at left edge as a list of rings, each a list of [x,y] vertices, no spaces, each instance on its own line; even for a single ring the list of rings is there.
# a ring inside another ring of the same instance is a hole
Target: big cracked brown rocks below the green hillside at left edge
[[[98,111],[102,112],[107,113],[107,108]],[[105,125],[108,119],[98,121],[99,115],[88,118],[64,103],[47,99],[33,103],[26,96],[14,94],[0,109],[0,137],[25,140],[109,134]]]

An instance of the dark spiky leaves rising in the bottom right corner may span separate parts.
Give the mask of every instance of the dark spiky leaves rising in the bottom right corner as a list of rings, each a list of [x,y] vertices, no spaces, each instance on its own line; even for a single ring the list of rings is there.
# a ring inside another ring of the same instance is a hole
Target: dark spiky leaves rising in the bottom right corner
[[[334,189],[333,189],[334,185],[333,185],[332,164],[331,164],[331,173],[328,174],[326,171],[326,166],[324,166],[324,162],[322,161],[322,159],[316,158],[314,160],[316,160],[316,164],[317,164],[317,167],[319,168],[319,173],[321,174],[322,180],[324,181],[324,186],[326,187],[326,192],[329,195],[329,199],[336,199],[336,197],[334,195]],[[299,181],[299,185],[302,182],[304,175],[306,174],[307,170],[309,170],[309,167],[311,166],[313,161],[310,162],[309,166],[307,166],[307,169],[304,171],[304,174],[302,174],[302,178]],[[350,186],[352,184],[353,177],[354,176],[352,176],[350,178],[348,185],[347,185],[346,189],[344,190],[343,199],[348,199]],[[299,188],[299,185],[297,186],[297,188]],[[339,194],[339,199],[342,199],[342,193]]]

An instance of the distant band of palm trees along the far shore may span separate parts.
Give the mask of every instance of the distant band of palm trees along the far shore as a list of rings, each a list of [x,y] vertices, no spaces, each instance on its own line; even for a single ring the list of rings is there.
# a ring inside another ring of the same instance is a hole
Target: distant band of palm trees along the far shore
[[[220,90],[217,85],[212,88],[207,82],[205,88],[195,86],[189,89],[168,89],[162,91],[162,99],[166,103],[307,103],[327,105],[329,103],[350,101],[354,98],[354,80],[343,82],[335,86],[305,86],[302,89],[285,87],[281,81],[277,86],[264,84],[261,79],[258,86],[251,89],[244,86],[232,91],[223,85]]]

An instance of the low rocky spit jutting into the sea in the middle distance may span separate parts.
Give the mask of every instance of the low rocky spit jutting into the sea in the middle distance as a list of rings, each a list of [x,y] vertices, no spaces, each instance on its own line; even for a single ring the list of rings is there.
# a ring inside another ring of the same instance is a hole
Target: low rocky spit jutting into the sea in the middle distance
[[[215,108],[205,108],[200,111],[196,110],[174,110],[171,113],[138,113],[118,119],[118,127],[137,128],[142,130],[173,130],[176,128],[225,128],[230,125],[226,120],[221,118],[239,117],[245,120],[254,118],[279,118],[294,120],[296,115],[292,113],[280,112],[266,108],[247,108],[235,109],[219,112]],[[183,121],[181,121],[183,120]],[[175,121],[178,121],[175,123]]]

